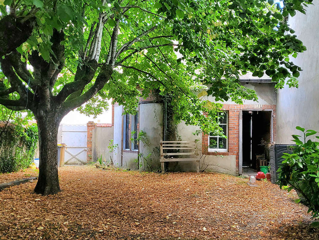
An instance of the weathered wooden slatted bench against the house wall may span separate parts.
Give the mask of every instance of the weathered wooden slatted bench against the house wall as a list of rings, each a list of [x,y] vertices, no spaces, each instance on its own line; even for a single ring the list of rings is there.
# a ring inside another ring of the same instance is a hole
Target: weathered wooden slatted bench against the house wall
[[[165,162],[181,162],[181,161],[196,161],[196,172],[199,172],[199,158],[164,158],[164,156],[185,156],[185,155],[197,155],[196,151],[196,141],[189,142],[189,141],[163,141],[160,140],[160,159],[159,162],[161,163],[162,173],[165,172],[164,170],[164,163]],[[170,152],[167,150],[187,150],[187,152]],[[165,152],[164,152],[165,150]]]

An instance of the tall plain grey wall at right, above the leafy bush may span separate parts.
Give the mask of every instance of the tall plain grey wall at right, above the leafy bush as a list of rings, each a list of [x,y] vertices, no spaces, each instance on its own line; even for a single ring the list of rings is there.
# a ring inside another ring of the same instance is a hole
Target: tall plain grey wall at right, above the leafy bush
[[[292,134],[300,134],[296,126],[319,131],[319,4],[309,5],[307,13],[297,14],[288,20],[307,51],[299,53],[291,61],[303,71],[299,76],[299,88],[285,87],[278,91],[277,144],[292,144]],[[312,136],[314,137],[314,136]]]

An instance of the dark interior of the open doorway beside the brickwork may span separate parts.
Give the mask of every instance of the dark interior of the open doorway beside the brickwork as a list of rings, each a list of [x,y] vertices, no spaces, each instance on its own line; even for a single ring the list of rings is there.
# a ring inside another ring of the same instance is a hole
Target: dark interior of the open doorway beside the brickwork
[[[242,166],[258,170],[256,155],[269,161],[266,142],[271,141],[271,111],[242,112]]]

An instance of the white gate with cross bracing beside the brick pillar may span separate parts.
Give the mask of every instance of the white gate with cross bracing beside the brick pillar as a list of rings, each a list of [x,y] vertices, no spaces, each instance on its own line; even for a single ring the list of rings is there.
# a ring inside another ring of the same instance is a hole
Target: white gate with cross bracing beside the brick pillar
[[[85,125],[61,124],[58,132],[58,143],[67,145],[64,155],[64,164],[86,164],[86,135]]]

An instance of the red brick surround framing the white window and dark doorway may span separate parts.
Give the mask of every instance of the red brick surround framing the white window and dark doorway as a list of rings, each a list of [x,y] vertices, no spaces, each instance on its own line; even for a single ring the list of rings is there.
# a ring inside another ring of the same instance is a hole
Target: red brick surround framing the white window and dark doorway
[[[224,104],[223,110],[228,111],[228,151],[227,152],[208,152],[208,135],[202,135],[202,152],[206,155],[235,155],[236,173],[239,172],[239,112],[240,110],[263,111],[272,110],[273,114],[273,140],[276,140],[276,105],[261,104]]]

